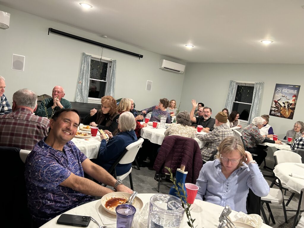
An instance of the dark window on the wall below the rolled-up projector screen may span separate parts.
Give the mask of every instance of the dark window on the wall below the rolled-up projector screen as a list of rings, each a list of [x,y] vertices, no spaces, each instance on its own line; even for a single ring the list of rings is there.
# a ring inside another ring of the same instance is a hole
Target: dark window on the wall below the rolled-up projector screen
[[[88,92],[89,103],[100,103],[105,95],[107,79],[111,72],[112,60],[92,55],[90,67],[90,84]]]

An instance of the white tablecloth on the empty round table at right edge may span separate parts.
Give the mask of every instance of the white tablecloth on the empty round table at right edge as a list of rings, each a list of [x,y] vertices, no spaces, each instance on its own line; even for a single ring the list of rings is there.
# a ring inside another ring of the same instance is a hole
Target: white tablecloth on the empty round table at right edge
[[[302,167],[301,167],[302,166]],[[294,162],[284,162],[277,164],[273,172],[275,176],[285,183],[289,188],[296,192],[301,192],[301,188],[304,186],[304,179],[291,177],[289,174],[297,174],[304,178],[304,164]]]

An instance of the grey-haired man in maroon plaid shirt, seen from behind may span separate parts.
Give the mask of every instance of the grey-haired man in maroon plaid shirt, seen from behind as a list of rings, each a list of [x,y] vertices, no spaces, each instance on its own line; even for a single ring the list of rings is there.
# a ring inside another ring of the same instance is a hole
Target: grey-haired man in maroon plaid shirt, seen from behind
[[[32,150],[47,136],[50,121],[35,116],[37,94],[20,89],[13,95],[12,113],[0,116],[0,146]]]

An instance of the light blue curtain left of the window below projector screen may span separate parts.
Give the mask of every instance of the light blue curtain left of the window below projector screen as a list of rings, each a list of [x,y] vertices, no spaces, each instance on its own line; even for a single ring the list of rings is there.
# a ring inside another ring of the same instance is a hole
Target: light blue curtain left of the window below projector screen
[[[89,85],[90,85],[91,56],[82,54],[81,67],[76,89],[76,102],[88,103]]]

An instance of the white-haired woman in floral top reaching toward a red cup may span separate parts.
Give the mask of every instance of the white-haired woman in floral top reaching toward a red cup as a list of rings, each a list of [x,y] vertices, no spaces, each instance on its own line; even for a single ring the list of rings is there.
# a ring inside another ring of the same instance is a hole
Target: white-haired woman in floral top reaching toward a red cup
[[[277,143],[281,144],[280,140],[270,140],[262,136],[260,129],[265,125],[266,121],[261,116],[257,116],[252,120],[252,123],[244,128],[242,131],[243,139],[247,147],[247,151],[251,154],[257,154],[253,156],[254,160],[257,161],[257,164],[260,166],[264,161],[264,158],[267,156],[267,152],[263,148],[259,147],[258,144],[261,143]]]

